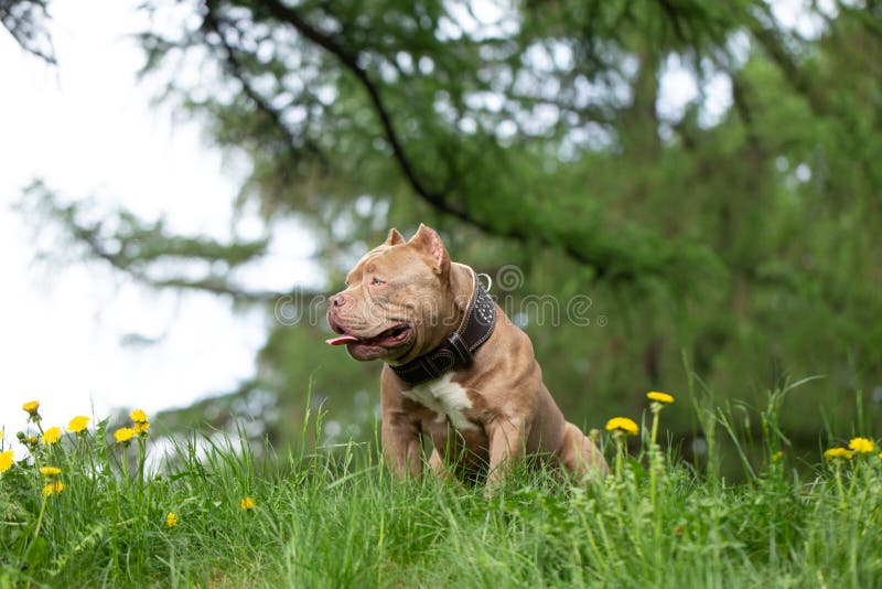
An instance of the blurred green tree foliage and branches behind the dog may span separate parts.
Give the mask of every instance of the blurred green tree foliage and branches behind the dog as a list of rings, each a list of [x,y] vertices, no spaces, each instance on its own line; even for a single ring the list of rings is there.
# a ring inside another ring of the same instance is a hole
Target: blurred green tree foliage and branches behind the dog
[[[389,226],[426,222],[478,271],[524,270],[495,292],[514,312],[530,296],[590,297],[590,326],[525,326],[571,420],[685,390],[685,353],[719,398],[752,407],[761,383],[824,375],[783,414],[806,452],[822,419],[853,420],[856,398],[882,415],[882,19],[874,2],[810,4],[819,28],[803,36],[761,0],[157,0],[146,10],[180,26],[140,40],[166,104],[250,163],[238,205],[258,205],[268,234],[294,218],[319,245],[323,290]],[[700,92],[671,113],[660,84],[677,66]],[[84,218],[52,194],[25,195],[49,205],[35,219],[150,285],[290,294],[230,280],[265,242],[176,237],[125,211]],[[169,278],[169,259],[223,264]],[[291,439],[314,377],[329,418],[366,436],[357,399],[377,398],[379,366],[319,350],[321,332],[273,324],[255,378],[215,413],[259,390],[279,416],[270,436]],[[671,417],[678,433],[696,427]]]

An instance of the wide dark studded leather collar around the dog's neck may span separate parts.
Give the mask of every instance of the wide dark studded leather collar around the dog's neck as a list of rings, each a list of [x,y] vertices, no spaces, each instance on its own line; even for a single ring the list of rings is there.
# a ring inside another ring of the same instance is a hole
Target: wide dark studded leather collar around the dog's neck
[[[471,270],[471,268],[470,268]],[[496,326],[496,303],[481,287],[474,270],[472,279],[475,289],[465,310],[460,328],[448,335],[431,352],[418,356],[406,364],[389,367],[409,385],[433,381],[454,368],[466,367],[472,363],[472,354],[487,341]]]

